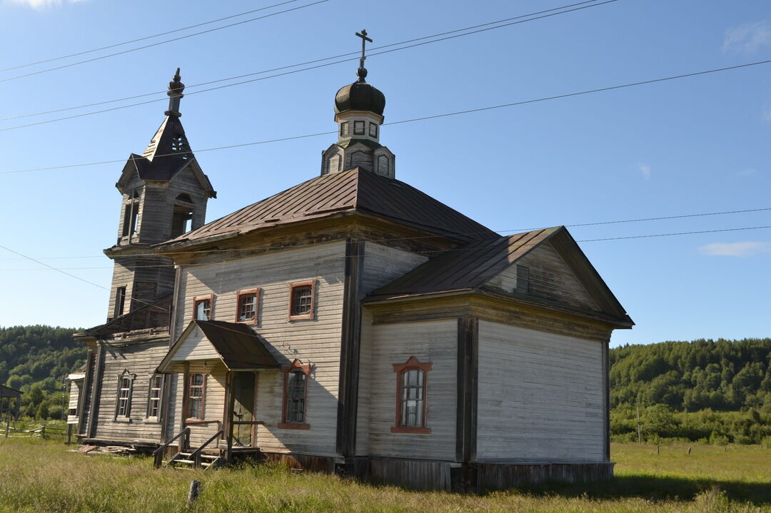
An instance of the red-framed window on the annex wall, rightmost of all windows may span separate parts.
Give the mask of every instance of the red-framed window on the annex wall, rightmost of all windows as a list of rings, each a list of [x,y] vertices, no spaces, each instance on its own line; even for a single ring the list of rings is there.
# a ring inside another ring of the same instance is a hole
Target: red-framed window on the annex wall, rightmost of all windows
[[[432,364],[409,357],[403,364],[393,364],[396,372],[396,425],[392,433],[429,434],[426,428],[426,390]]]

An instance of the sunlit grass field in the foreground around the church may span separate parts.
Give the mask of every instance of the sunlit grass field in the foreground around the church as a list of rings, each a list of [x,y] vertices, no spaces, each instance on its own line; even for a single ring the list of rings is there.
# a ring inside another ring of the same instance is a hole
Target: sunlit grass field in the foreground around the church
[[[616,478],[488,495],[406,491],[268,465],[153,470],[147,458],[85,456],[61,442],[0,438],[0,511],[771,511],[771,450],[614,444]]]

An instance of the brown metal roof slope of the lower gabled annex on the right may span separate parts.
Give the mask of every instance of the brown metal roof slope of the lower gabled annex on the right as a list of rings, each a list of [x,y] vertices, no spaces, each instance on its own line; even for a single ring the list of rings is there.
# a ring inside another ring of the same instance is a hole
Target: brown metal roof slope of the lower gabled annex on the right
[[[482,287],[563,226],[482,240],[440,253],[365,299],[385,300]]]

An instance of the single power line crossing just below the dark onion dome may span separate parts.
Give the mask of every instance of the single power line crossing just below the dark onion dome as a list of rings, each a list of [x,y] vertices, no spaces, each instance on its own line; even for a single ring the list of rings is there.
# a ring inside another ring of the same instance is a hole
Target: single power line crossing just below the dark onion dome
[[[615,1],[615,0],[614,0]],[[682,75],[672,75],[668,77],[663,77],[660,79],[650,79],[650,80],[642,80],[639,82],[629,82],[626,84],[621,84],[618,86],[608,86],[608,87],[601,87],[598,89],[588,89],[584,91],[579,92],[569,92],[562,95],[555,95],[555,96],[544,96],[542,98],[537,99],[529,99],[529,100],[522,100],[519,102],[510,102],[510,103],[503,103],[496,106],[487,106],[487,107],[479,107],[476,109],[466,109],[466,110],[459,110],[455,112],[446,112],[444,114],[436,114],[433,116],[423,116],[419,118],[412,118],[412,119],[402,119],[401,121],[392,121],[383,123],[384,126],[389,125],[402,125],[404,123],[409,122],[416,122],[416,121],[426,121],[428,119],[439,119],[439,118],[445,118],[449,116],[460,116],[462,114],[470,114],[473,112],[483,112],[486,110],[494,110],[494,109],[505,109],[507,107],[514,107],[514,106],[522,106],[527,105],[528,103],[537,103],[537,102],[548,102],[555,99],[564,99],[564,98],[571,98],[573,96],[583,96],[583,95],[589,95],[594,94],[597,92],[608,92],[615,89],[625,89],[628,87],[636,87],[636,86],[646,86],[649,84],[654,84],[657,82],[667,82],[669,80],[676,80],[676,79],[685,79],[689,77],[699,76],[699,75],[707,75],[709,73],[717,73],[717,72],[725,72],[730,71],[733,69],[742,69],[742,68],[748,68],[750,66],[756,66],[756,65],[763,65],[768,64],[771,62],[771,59],[763,60],[763,61],[756,61],[756,62],[748,62],[746,64],[738,64],[738,65],[732,65],[732,66],[726,66],[723,68],[715,68],[715,69],[707,69],[705,71],[699,71],[699,72],[692,72],[692,73],[685,73]],[[191,93],[192,94],[192,93]],[[5,129],[0,129],[0,131]],[[328,136],[331,134],[336,134],[336,130],[332,130],[329,132],[316,132],[316,133],[310,133],[305,134],[302,136],[291,136],[291,137],[282,137],[279,139],[264,139],[262,141],[254,141],[254,142],[242,142],[240,144],[231,144],[227,146],[217,146],[214,148],[205,148],[205,149],[197,149],[195,152],[187,152],[187,153],[203,153],[203,152],[210,152],[210,151],[217,151],[220,149],[233,149],[233,148],[242,148],[244,146],[257,146],[261,144],[268,144],[272,142],[283,142],[283,141],[291,141],[295,139],[305,139],[308,137],[316,137],[316,136]],[[157,156],[170,156],[170,155],[181,155],[183,152],[177,152],[177,153],[167,153],[164,155],[157,155]],[[85,166],[98,166],[100,164],[113,164],[113,163],[122,163],[125,159],[117,159],[117,160],[102,160],[99,162],[92,162],[92,163],[79,163],[79,164],[66,164],[64,166],[48,166],[48,167],[37,167],[37,168],[29,168],[29,169],[13,169],[11,171],[0,171],[0,174],[11,174],[11,173],[29,173],[33,171],[48,171],[52,169],[68,169],[68,168],[74,168],[74,167],[85,167]]]

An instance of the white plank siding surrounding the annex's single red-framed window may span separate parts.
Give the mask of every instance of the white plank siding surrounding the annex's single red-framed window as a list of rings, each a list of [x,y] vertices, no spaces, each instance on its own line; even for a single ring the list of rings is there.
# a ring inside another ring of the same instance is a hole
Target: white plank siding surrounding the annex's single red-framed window
[[[369,390],[369,452],[375,456],[453,461],[456,434],[457,320],[380,324],[372,327],[372,359],[361,372]],[[392,433],[396,424],[393,364],[409,357],[433,364],[427,374],[426,427],[430,434]]]

